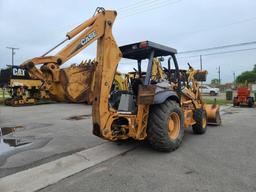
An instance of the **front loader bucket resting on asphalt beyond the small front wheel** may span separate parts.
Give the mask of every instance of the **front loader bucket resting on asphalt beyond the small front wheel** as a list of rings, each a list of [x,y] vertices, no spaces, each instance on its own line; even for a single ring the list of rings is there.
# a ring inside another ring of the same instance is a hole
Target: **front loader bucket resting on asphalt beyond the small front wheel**
[[[220,106],[216,104],[205,104],[208,125],[219,126],[221,124]]]

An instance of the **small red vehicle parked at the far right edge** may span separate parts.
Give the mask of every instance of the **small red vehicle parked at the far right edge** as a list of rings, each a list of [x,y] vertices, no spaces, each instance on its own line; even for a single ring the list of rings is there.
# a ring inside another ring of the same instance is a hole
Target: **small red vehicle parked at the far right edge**
[[[237,96],[233,99],[234,106],[247,105],[253,107],[254,98],[251,97],[251,90],[248,87],[238,87],[236,93]]]

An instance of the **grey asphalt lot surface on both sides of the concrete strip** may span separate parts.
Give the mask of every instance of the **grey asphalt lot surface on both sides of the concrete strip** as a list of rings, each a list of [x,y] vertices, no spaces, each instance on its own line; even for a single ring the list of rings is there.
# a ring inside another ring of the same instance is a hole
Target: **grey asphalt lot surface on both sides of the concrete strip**
[[[135,147],[125,152],[109,155],[106,148],[97,154],[98,146],[110,142],[91,134],[90,114],[90,106],[77,104],[1,106],[0,127],[17,127],[11,137],[31,143],[0,154],[0,177],[95,148],[95,158],[108,158],[40,191],[256,191],[256,108],[225,107],[222,126],[208,127],[205,135],[186,130],[172,153],[130,141],[122,145]]]

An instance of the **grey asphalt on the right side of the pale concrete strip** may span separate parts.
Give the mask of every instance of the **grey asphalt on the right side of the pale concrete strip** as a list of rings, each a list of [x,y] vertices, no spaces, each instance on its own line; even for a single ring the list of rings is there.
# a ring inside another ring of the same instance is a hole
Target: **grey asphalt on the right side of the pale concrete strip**
[[[223,125],[205,135],[186,132],[182,146],[159,153],[136,149],[68,177],[40,192],[256,191],[256,109],[228,108]]]

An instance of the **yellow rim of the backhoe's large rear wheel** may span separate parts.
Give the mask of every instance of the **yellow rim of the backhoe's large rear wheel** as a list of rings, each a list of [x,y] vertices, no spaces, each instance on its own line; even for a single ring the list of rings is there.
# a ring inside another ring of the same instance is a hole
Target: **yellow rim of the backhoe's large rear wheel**
[[[172,112],[168,119],[168,134],[171,139],[176,139],[180,133],[180,116]]]

